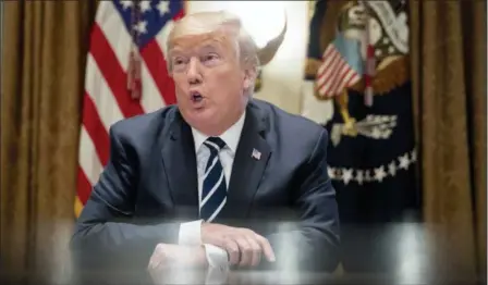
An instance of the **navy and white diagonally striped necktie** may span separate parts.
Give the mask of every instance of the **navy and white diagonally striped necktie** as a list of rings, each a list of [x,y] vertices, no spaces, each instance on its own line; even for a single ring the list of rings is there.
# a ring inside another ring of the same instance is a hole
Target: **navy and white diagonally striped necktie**
[[[225,176],[219,159],[219,152],[225,147],[225,142],[219,137],[209,137],[204,144],[210,150],[210,157],[205,168],[200,218],[206,222],[211,222],[227,201]]]

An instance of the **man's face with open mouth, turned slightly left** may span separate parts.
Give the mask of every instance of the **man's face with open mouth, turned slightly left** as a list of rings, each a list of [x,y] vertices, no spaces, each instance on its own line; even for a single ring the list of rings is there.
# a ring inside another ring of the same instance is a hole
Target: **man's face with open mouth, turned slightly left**
[[[169,60],[183,117],[207,135],[220,135],[245,109],[243,90],[251,83],[234,44],[223,33],[185,36],[173,42]]]

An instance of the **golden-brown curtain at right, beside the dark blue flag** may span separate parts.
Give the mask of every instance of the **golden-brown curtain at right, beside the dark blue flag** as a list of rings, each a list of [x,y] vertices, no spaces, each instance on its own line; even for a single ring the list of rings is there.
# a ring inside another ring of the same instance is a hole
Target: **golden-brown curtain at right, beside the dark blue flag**
[[[486,1],[410,3],[424,218],[443,248],[436,263],[486,277]]]

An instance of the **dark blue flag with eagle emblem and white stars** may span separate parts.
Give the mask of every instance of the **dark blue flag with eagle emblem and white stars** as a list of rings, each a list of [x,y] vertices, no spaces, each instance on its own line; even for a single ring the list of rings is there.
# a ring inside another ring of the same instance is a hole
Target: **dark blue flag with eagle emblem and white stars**
[[[391,264],[379,244],[383,226],[418,213],[420,205],[407,2],[312,2],[302,115],[330,135],[328,172],[338,195],[342,265],[350,272],[385,271]]]

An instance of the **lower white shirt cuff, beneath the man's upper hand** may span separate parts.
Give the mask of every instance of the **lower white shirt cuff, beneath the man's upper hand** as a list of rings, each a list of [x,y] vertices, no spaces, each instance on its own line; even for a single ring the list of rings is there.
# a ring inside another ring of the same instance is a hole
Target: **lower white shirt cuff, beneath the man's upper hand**
[[[208,261],[205,284],[225,284],[229,274],[227,251],[213,245],[204,245]]]

